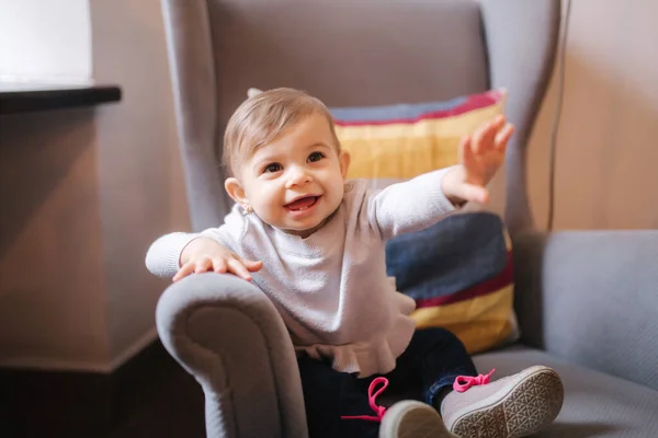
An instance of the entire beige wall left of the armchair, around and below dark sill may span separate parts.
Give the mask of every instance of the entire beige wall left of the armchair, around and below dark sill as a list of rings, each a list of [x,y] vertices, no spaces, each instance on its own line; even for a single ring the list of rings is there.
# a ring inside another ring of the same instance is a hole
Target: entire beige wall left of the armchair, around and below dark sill
[[[189,228],[160,3],[89,7],[122,102],[0,118],[0,366],[118,366],[156,336],[148,244]]]

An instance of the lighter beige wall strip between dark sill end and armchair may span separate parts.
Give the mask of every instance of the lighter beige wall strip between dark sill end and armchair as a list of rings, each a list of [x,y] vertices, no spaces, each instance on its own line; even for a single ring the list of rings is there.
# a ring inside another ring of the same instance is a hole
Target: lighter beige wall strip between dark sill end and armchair
[[[144,266],[148,244],[188,229],[188,206],[159,0],[91,1],[93,76],[120,83],[121,106],[101,111],[100,201],[114,365],[155,337],[166,281]]]

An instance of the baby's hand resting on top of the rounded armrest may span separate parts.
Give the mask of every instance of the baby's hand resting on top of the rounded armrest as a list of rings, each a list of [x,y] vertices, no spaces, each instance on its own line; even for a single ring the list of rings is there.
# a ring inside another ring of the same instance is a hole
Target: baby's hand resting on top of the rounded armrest
[[[230,273],[251,281],[251,274],[263,267],[262,262],[245,260],[222,246],[212,239],[198,238],[185,246],[181,254],[181,268],[173,276],[178,281],[190,274],[201,274],[214,270],[218,274]]]

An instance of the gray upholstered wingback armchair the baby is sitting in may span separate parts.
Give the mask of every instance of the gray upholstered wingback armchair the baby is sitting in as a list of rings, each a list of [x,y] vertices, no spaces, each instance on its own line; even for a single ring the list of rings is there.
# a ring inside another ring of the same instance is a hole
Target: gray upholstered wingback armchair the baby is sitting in
[[[508,88],[518,130],[506,222],[522,339],[476,364],[495,376],[533,364],[558,370],[564,408],[541,437],[658,437],[658,231],[545,234],[530,215],[525,146],[554,65],[559,0],[162,4],[196,231],[229,208],[218,149],[250,87],[302,88],[330,106]],[[163,292],[157,324],[205,392],[208,437],[306,436],[293,348],[258,288],[227,275],[188,277]]]

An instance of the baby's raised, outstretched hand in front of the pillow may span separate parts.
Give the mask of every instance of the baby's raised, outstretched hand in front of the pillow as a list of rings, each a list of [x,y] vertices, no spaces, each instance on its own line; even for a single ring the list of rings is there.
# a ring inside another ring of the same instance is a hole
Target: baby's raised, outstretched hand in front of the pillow
[[[514,127],[504,116],[497,116],[486,123],[460,145],[460,162],[443,181],[443,192],[454,204],[489,200],[489,184],[500,165],[504,162],[507,145]]]

